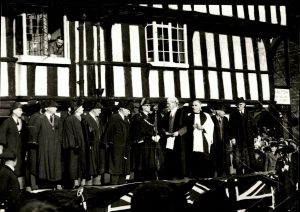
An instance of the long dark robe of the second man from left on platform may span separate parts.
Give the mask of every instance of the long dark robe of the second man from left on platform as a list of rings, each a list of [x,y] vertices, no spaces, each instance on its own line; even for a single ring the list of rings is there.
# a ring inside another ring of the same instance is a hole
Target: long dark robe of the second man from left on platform
[[[62,179],[62,123],[54,116],[54,126],[46,115],[37,119],[38,178],[46,181]]]

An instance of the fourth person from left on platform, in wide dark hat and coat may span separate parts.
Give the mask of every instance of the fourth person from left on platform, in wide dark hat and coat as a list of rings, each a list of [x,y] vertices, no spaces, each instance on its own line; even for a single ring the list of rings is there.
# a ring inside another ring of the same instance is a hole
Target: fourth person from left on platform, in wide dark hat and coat
[[[101,185],[105,169],[105,148],[101,144],[103,124],[100,119],[103,106],[98,101],[87,101],[83,106],[88,113],[82,115],[82,127],[87,145],[87,185]]]

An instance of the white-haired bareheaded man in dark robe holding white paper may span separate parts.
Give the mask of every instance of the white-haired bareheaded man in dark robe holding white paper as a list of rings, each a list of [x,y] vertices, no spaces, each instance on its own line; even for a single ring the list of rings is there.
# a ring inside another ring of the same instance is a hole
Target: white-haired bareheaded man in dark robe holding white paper
[[[186,133],[184,126],[184,111],[178,107],[176,97],[167,99],[169,112],[163,118],[161,136],[165,154],[165,177],[167,179],[181,179],[186,176],[185,171],[185,143],[182,136]]]

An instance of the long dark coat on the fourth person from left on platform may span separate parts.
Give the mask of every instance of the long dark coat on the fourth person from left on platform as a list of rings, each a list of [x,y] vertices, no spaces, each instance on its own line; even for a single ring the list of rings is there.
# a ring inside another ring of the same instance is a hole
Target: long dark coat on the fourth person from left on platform
[[[99,120],[99,119],[98,119]],[[99,125],[90,115],[82,115],[82,128],[87,145],[87,170],[89,176],[103,174],[105,171],[105,148],[101,143],[103,126],[99,120]]]

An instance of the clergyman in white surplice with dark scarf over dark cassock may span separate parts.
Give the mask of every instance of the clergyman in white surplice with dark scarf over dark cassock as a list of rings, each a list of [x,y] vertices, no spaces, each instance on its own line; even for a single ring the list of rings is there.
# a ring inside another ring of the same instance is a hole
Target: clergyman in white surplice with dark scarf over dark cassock
[[[200,100],[194,100],[193,112],[186,117],[187,170],[189,177],[212,177],[210,146],[213,143],[214,123],[201,109]]]

